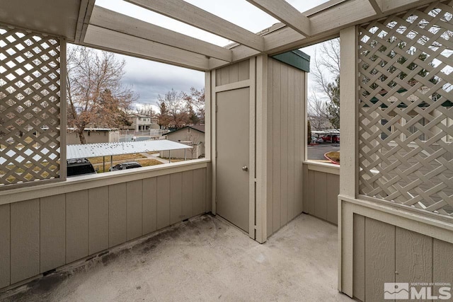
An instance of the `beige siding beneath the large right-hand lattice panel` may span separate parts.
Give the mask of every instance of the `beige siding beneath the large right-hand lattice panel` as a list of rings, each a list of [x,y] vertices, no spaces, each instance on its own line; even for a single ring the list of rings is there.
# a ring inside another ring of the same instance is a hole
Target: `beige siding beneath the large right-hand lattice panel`
[[[353,294],[360,301],[383,301],[384,282],[453,284],[452,243],[358,214],[353,238]]]

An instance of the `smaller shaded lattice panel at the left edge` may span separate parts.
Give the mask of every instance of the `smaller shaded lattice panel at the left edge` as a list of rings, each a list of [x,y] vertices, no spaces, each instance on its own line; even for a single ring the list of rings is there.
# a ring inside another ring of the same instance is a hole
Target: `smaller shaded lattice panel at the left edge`
[[[0,186],[59,177],[60,46],[0,25]]]

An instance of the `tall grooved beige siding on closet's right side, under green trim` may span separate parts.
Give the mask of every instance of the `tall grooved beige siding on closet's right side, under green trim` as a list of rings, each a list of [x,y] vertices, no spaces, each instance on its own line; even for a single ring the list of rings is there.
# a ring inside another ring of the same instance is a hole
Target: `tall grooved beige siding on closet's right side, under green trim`
[[[269,58],[268,236],[302,213],[304,102],[305,73]]]

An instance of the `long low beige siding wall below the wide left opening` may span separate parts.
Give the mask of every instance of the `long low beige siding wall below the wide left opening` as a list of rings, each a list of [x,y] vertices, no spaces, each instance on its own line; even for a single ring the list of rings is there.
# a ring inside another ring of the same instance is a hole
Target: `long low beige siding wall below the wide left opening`
[[[211,211],[210,170],[0,205],[0,289]]]

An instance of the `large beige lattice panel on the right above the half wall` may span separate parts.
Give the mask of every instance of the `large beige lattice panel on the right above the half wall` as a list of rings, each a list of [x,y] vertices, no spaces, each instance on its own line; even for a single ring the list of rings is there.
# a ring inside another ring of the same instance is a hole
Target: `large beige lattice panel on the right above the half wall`
[[[453,8],[360,28],[360,194],[453,217]]]

